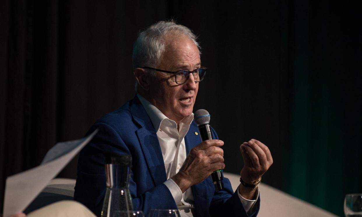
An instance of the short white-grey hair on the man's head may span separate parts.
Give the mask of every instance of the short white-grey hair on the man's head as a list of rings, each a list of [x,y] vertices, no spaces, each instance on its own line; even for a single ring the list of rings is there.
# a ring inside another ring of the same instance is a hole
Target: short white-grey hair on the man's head
[[[132,63],[133,68],[152,67],[156,68],[163,53],[165,52],[167,34],[185,35],[197,46],[200,52],[200,46],[197,43],[196,35],[186,27],[176,24],[173,20],[159,21],[142,31],[133,45]],[[151,71],[155,75],[155,71]],[[138,89],[136,81],[135,89]]]

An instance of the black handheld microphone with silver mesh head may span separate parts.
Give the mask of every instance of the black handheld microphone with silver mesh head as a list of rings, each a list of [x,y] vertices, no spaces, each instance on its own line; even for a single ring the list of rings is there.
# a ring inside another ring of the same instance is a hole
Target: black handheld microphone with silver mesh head
[[[199,128],[202,141],[212,139],[210,127],[210,114],[205,109],[195,111],[194,120]],[[216,170],[211,173],[211,180],[214,182],[215,191],[224,190],[223,175],[221,170]]]

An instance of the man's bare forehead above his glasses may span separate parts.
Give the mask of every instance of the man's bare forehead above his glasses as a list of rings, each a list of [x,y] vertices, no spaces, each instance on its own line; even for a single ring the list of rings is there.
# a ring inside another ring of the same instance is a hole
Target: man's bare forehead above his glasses
[[[199,50],[190,38],[173,34],[168,35],[165,42],[165,52],[161,58],[163,67],[194,68],[200,64]]]

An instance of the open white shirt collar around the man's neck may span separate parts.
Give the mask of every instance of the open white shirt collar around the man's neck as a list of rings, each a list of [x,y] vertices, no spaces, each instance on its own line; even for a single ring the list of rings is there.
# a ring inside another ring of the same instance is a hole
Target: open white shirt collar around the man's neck
[[[155,127],[156,131],[159,130],[161,122],[164,119],[169,120],[170,122],[173,122],[175,126],[177,126],[176,122],[173,120],[167,118],[166,115],[164,115],[156,106],[152,105],[147,99],[142,97],[140,94],[137,94],[137,97],[139,101],[142,103],[142,106],[147,112],[147,115],[150,117],[151,122],[153,124],[153,127]],[[190,125],[192,120],[194,119],[194,113],[191,113],[191,115],[185,117],[181,120],[182,123]]]

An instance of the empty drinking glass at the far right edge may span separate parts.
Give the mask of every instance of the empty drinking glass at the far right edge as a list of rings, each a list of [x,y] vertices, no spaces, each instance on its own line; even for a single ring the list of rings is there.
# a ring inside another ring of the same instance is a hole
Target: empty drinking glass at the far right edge
[[[346,217],[362,217],[362,193],[352,193],[344,198]]]

